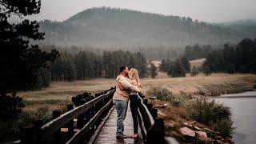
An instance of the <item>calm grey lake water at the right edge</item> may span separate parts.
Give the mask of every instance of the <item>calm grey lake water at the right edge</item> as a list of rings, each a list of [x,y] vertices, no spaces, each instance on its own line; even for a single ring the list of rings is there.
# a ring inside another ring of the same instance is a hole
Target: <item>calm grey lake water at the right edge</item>
[[[238,144],[256,143],[256,91],[224,94],[214,98],[229,106],[234,121],[233,141]]]

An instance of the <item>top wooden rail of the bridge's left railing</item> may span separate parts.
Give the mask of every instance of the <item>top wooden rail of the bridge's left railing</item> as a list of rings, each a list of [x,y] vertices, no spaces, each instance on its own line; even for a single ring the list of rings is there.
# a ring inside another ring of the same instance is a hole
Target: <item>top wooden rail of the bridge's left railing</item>
[[[66,112],[65,114],[62,114],[58,118],[55,118],[54,120],[47,122],[45,125],[43,125],[41,130],[41,138],[47,138],[50,136],[50,134],[53,134],[55,130],[58,130],[62,126],[64,126],[67,122],[70,122],[71,119],[78,117],[79,114],[84,113],[86,110],[89,110],[90,107],[94,106],[96,103],[100,102],[104,98],[110,97],[112,94],[114,94],[115,90],[110,90],[106,94],[103,94],[99,96],[98,98],[94,98],[90,102],[86,102],[82,106],[78,106],[74,108],[73,110],[70,110]]]

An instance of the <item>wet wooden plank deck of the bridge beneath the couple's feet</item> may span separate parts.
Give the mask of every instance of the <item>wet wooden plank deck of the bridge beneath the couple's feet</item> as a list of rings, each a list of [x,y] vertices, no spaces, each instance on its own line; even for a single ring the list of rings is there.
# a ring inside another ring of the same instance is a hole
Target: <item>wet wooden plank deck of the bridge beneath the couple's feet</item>
[[[100,130],[97,138],[94,140],[94,144],[116,144],[116,143],[126,143],[126,144],[141,144],[142,141],[142,134],[141,130],[138,126],[138,134],[139,138],[124,138],[124,139],[116,139],[115,133],[117,130],[117,112],[114,108],[114,110],[110,113],[110,117],[106,120],[104,126],[102,127],[102,130]],[[126,114],[126,119],[124,121],[124,134],[130,135],[134,132],[134,126],[133,126],[133,118],[131,116],[130,112],[130,103],[128,105],[128,110]]]

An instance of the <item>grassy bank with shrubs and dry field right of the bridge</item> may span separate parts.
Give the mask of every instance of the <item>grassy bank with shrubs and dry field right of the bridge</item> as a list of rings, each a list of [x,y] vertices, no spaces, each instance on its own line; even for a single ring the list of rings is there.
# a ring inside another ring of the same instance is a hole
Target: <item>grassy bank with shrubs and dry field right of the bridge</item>
[[[170,78],[162,82],[157,80],[155,85],[150,80],[146,82],[149,84],[146,86],[146,95],[157,96],[156,105],[168,104],[166,108],[158,108],[158,115],[165,119],[166,135],[180,142],[193,142],[193,138],[185,137],[179,130],[186,126],[184,123],[195,122],[193,126],[216,132],[210,137],[208,135],[208,139],[202,143],[228,143],[234,130],[230,109],[220,103],[210,102],[207,98],[254,90],[256,75],[212,74],[207,77]]]

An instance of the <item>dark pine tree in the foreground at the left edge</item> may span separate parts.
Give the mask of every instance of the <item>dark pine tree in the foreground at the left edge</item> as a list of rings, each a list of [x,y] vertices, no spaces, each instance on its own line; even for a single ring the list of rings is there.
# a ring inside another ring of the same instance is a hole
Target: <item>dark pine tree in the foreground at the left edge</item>
[[[42,40],[44,36],[38,31],[38,22],[9,22],[10,16],[24,18],[38,14],[40,8],[40,0],[0,1],[0,118],[13,118],[21,112],[24,105],[16,92],[38,86],[44,79],[42,69],[46,70],[49,62],[58,57],[57,50],[48,53],[31,44],[31,40]]]

